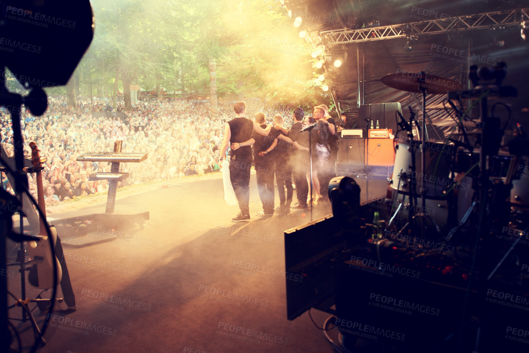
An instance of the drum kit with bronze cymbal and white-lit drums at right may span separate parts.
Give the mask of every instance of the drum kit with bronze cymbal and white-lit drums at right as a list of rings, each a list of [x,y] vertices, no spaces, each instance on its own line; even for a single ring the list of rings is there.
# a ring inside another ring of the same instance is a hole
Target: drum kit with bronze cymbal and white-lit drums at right
[[[456,106],[447,98],[458,119],[436,121],[435,125],[451,126],[452,133],[444,142],[430,142],[428,139],[426,120],[432,125],[433,123],[425,111],[426,94],[451,92],[449,96],[453,99],[455,92],[452,91],[461,91],[465,87],[453,80],[426,75],[424,72],[390,74],[382,77],[381,82],[391,88],[422,93],[423,96],[422,120],[419,123],[415,120],[411,107],[409,122],[399,114],[402,121],[399,126],[407,130],[407,137],[395,139],[395,164],[393,174],[388,179],[388,197],[391,195],[392,200],[388,227],[396,223],[396,220],[405,222],[407,219],[402,229],[397,228],[400,229],[399,233],[406,228],[411,232],[413,227],[420,225],[423,238],[432,234],[427,230],[432,226],[436,233],[449,234],[449,230],[453,231],[467,221],[476,201],[484,194],[486,187],[482,184],[485,183],[489,186],[503,185],[504,190],[512,185],[510,198],[508,194],[506,197],[509,199],[506,205],[517,212],[525,213],[529,210],[529,157],[516,156],[516,153],[506,151],[506,148],[497,153],[491,153],[488,147],[484,151],[484,146],[490,140],[490,133],[484,133],[485,121],[488,121],[486,117],[470,120],[460,110],[461,102]],[[479,90],[477,82],[473,83]],[[462,93],[468,92],[472,91]],[[475,98],[481,100],[483,97]],[[460,96],[455,99],[459,101]],[[414,141],[410,128],[414,123],[419,128],[418,141]],[[476,140],[478,148],[470,144],[469,137]],[[494,143],[496,141],[492,141]],[[499,141],[497,144],[499,149]],[[487,167],[484,168],[485,165]],[[402,196],[400,200],[399,195]],[[443,238],[446,239],[445,236]]]

